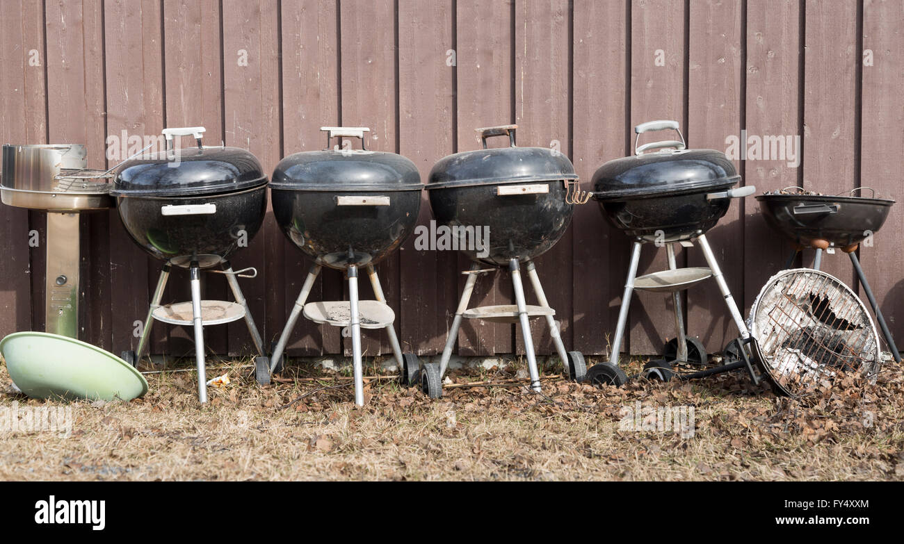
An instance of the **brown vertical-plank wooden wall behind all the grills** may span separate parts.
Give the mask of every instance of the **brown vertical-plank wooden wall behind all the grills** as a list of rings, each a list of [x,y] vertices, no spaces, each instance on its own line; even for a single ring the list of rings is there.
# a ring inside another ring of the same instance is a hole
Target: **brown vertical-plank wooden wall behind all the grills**
[[[280,157],[318,149],[322,125],[371,127],[373,149],[398,152],[426,176],[440,157],[475,149],[475,127],[517,123],[521,145],[560,145],[585,189],[599,164],[629,154],[631,127],[673,118],[692,147],[726,149],[726,137],[801,136],[800,164],[739,161],[744,183],[842,192],[861,185],[899,198],[904,149],[904,3],[901,0],[4,0],[0,2],[0,139],[83,143],[102,168],[108,135],[207,127],[208,143],[250,149],[272,169]],[[112,164],[110,164],[112,165]],[[421,220],[430,217],[425,197]],[[30,248],[42,213],[0,206],[0,335],[43,329],[43,247]],[[160,263],[137,248],[115,211],[82,219],[82,338],[134,348]],[[901,205],[862,248],[871,285],[899,339],[904,333]],[[786,259],[757,202],[732,204],[711,230],[733,293],[748,306]],[[607,351],[626,273],[628,242],[595,205],[538,261],[569,348]],[[809,262],[810,257],[804,257]],[[679,263],[702,263],[699,250]],[[237,267],[268,338],[284,324],[307,265],[272,216]],[[465,259],[413,249],[381,264],[400,339],[436,353],[463,284]],[[665,267],[646,248],[641,270]],[[842,255],[824,268],[853,282]],[[704,284],[705,285],[705,284]],[[208,275],[206,295],[227,296]],[[367,287],[365,287],[367,289]],[[327,273],[313,300],[343,296]],[[529,295],[531,298],[532,295]],[[187,300],[186,275],[167,301]],[[497,277],[473,299],[499,304]],[[713,285],[687,294],[689,330],[711,351],[734,334]],[[636,296],[626,349],[658,352],[673,335],[662,295]],[[537,327],[538,331],[540,327]],[[244,325],[210,327],[221,353],[248,352]],[[189,334],[155,327],[152,351],[191,351]],[[462,354],[520,351],[508,325],[467,326]],[[547,333],[535,338],[551,352]],[[342,352],[337,329],[299,324],[291,353]],[[348,346],[345,346],[348,348]],[[381,334],[368,354],[388,351]]]

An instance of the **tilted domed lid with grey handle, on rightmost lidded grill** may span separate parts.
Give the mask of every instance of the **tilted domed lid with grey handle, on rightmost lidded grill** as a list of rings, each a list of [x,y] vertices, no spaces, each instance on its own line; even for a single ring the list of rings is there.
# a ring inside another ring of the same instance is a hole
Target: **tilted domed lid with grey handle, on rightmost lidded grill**
[[[727,188],[740,176],[724,153],[714,149],[686,149],[677,121],[649,121],[635,127],[640,135],[671,128],[681,141],[666,140],[637,146],[635,155],[615,159],[593,174],[594,198],[614,200],[670,193]],[[650,150],[657,150],[649,153]]]

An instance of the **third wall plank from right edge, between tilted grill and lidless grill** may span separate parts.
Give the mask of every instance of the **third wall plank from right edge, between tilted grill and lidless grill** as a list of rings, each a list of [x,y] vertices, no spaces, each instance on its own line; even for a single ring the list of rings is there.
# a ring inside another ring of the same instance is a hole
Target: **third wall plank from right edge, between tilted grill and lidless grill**
[[[803,54],[798,0],[748,0],[746,123],[749,135],[792,136],[796,161],[801,160],[800,61]],[[796,140],[795,140],[796,138]],[[744,183],[756,194],[798,183],[800,168],[790,160],[744,162]],[[744,296],[747,315],[759,289],[785,267],[791,243],[769,227],[753,197],[744,199]],[[741,305],[741,297],[735,301]]]

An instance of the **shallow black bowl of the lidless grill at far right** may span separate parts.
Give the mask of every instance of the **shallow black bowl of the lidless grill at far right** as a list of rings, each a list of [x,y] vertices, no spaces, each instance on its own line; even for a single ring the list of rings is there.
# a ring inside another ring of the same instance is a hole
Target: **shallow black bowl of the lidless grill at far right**
[[[836,247],[860,243],[885,223],[895,201],[856,196],[760,194],[757,197],[766,222],[796,244],[810,246],[825,239]],[[796,213],[800,206],[837,206],[835,212]]]

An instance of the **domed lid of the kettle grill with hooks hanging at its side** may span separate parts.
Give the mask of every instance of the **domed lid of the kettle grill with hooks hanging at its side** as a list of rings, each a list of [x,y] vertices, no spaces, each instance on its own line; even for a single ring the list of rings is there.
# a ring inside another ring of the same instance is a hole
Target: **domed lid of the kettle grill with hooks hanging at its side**
[[[427,188],[447,189],[500,183],[578,179],[567,156],[546,147],[515,147],[517,125],[478,128],[484,148],[448,155],[430,170]],[[509,146],[487,149],[486,138],[508,136]]]

